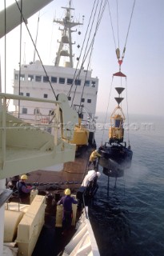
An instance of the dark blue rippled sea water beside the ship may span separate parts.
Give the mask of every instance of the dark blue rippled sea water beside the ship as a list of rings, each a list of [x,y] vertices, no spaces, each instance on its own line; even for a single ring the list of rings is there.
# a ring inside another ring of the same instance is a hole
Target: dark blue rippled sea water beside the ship
[[[98,146],[108,141],[108,130],[103,134],[103,127],[100,122]],[[108,178],[99,168],[102,175],[89,215],[102,256],[164,255],[163,130],[164,118],[131,118],[129,138],[134,154],[130,169],[114,186],[115,178]]]

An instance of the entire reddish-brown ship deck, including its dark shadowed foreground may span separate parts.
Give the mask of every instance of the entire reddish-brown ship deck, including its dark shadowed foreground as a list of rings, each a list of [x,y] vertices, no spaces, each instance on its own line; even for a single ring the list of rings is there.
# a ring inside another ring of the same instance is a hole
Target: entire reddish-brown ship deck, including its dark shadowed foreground
[[[56,206],[66,187],[70,188],[72,194],[76,194],[88,171],[91,150],[91,147],[83,147],[74,162],[66,162],[60,171],[35,170],[28,174],[29,183],[38,183],[38,194],[46,195],[45,223],[32,256],[62,255],[66,244],[75,234],[74,226],[64,235],[61,227],[55,227]],[[77,210],[77,221],[80,215],[81,210]]]

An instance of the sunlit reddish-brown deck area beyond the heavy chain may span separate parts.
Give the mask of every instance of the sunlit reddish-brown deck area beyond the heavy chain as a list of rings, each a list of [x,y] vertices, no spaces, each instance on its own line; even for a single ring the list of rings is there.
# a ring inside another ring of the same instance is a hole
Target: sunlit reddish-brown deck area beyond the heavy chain
[[[91,148],[84,147],[74,162],[66,162],[62,170],[35,170],[28,174],[29,183],[38,183],[38,190],[70,189],[76,190],[87,172]]]

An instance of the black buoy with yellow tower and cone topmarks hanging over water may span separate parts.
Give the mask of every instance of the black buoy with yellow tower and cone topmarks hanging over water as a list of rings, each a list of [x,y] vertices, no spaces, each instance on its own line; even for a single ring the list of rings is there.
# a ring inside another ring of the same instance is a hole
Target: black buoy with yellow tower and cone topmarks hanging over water
[[[99,158],[99,165],[103,167],[103,173],[109,177],[118,178],[123,176],[124,170],[130,168],[133,151],[130,148],[130,141],[128,140],[128,145],[124,141],[126,118],[120,105],[124,99],[122,92],[125,90],[125,87],[122,86],[122,79],[126,79],[126,74],[121,72],[121,64],[119,72],[113,74],[113,78],[118,78],[117,80],[121,81],[121,86],[115,87],[118,93],[118,97],[115,97],[118,106],[110,115],[109,140],[102,144],[98,151],[102,155]]]

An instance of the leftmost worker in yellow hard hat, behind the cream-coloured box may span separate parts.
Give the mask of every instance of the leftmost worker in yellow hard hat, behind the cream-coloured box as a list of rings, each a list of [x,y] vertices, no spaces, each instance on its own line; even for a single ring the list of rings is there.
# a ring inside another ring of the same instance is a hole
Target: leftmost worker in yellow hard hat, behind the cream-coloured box
[[[18,190],[18,196],[21,203],[30,204],[30,191],[33,189],[26,187],[27,175],[22,174],[21,179],[17,182],[16,187]]]

